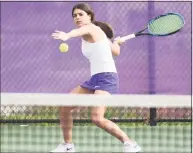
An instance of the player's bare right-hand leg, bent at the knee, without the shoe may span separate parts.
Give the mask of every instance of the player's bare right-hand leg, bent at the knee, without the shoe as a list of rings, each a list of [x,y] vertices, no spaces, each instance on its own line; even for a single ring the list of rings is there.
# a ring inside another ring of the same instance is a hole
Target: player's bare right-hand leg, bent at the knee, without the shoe
[[[95,91],[95,94],[109,94],[109,93],[106,91],[97,90]],[[121,142],[131,141],[129,137],[126,135],[126,133],[123,132],[115,123],[104,118],[105,111],[106,111],[105,107],[93,107],[91,114],[92,122],[98,127],[104,129],[111,135],[118,138]]]

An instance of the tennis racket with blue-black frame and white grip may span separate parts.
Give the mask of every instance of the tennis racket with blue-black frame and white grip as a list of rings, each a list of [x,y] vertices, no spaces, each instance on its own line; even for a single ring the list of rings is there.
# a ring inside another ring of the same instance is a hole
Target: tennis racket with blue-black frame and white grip
[[[136,33],[121,37],[121,41],[137,36],[168,36],[180,31],[185,24],[184,18],[179,13],[167,13],[157,16],[149,21],[148,25]],[[147,32],[145,32],[147,30]]]

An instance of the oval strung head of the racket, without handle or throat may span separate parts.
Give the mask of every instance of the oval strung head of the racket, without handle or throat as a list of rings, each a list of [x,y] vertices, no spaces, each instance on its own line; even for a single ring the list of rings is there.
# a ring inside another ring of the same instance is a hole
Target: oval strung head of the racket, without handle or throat
[[[149,32],[154,35],[165,35],[180,30],[184,25],[181,16],[169,14],[153,20],[149,24]]]

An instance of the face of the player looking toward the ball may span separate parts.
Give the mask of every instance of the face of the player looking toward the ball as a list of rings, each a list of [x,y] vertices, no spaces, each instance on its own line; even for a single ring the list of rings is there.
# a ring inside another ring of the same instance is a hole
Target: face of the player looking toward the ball
[[[91,22],[91,16],[81,9],[75,9],[72,16],[77,27],[84,26]]]

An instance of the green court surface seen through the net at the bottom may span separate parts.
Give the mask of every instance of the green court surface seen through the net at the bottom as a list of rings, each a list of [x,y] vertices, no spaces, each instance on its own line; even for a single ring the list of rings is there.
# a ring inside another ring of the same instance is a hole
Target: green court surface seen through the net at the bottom
[[[126,126],[142,152],[191,152],[191,125]],[[1,152],[49,152],[62,142],[59,126],[1,126]],[[122,144],[96,126],[74,126],[76,152],[122,152]]]

